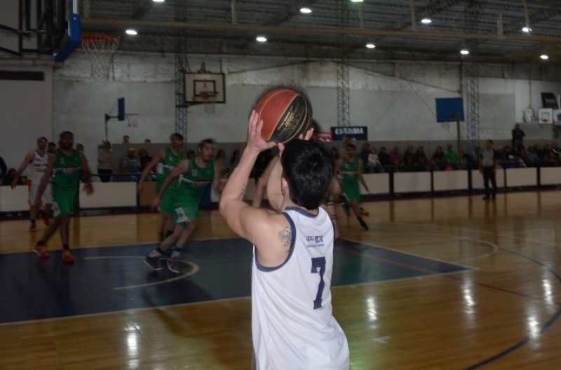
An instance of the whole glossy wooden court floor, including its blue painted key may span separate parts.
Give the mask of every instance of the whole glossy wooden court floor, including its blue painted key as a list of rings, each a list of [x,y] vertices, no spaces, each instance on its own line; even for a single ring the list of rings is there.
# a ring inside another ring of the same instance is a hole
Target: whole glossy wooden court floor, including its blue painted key
[[[560,369],[560,191],[338,210],[334,315],[351,369]],[[42,262],[0,221],[0,369],[249,369],[251,247],[201,212],[185,273],[153,273],[157,214],[72,220]]]

